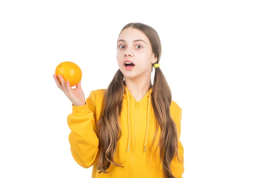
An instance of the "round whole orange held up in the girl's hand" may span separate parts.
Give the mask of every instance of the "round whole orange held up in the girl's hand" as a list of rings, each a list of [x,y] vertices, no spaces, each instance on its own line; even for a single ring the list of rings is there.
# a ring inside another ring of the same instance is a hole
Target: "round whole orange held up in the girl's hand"
[[[55,69],[55,74],[62,75],[65,82],[70,82],[70,87],[77,85],[82,78],[81,68],[74,62],[61,62]],[[59,77],[58,77],[59,78]]]

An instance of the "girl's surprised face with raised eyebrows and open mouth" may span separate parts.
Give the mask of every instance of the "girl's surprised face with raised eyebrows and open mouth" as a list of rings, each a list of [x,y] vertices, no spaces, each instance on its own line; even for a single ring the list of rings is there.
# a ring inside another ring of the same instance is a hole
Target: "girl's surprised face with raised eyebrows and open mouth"
[[[134,40],[143,40],[144,42]],[[148,37],[135,28],[126,28],[120,34],[117,43],[116,59],[120,71],[128,78],[149,75],[152,64],[157,62]],[[125,68],[124,61],[126,59],[134,64],[133,68]]]

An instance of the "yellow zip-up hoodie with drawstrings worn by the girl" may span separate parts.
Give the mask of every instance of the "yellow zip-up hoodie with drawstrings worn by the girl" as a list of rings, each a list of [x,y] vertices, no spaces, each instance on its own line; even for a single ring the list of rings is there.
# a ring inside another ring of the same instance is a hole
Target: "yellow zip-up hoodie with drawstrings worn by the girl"
[[[139,102],[134,99],[128,88],[125,87],[120,127],[122,136],[117,142],[114,160],[122,163],[122,167],[111,166],[106,170],[110,173],[99,173],[96,163],[100,153],[99,140],[96,136],[96,125],[103,114],[103,97],[106,89],[93,90],[86,99],[84,106],[72,105],[72,113],[67,116],[70,128],[70,150],[75,161],[84,168],[93,166],[92,178],[163,178],[160,158],[154,155],[160,129],[148,159],[149,147],[155,133],[154,111],[150,102],[152,88]],[[178,132],[178,155],[171,163],[171,170],[176,178],[182,178],[183,145],[180,142],[181,108],[172,101],[170,107],[172,119],[175,121]],[[159,149],[158,149],[159,151]]]

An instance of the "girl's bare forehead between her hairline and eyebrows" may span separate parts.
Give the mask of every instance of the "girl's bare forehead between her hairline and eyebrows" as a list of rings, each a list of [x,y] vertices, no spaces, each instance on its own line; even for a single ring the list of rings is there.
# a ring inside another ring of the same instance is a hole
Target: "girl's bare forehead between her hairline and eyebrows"
[[[125,30],[122,31],[120,34],[118,40],[125,40],[127,42],[132,42],[133,40],[144,40],[145,42],[148,41],[148,37],[143,34],[143,32],[135,29],[135,28],[126,28]]]

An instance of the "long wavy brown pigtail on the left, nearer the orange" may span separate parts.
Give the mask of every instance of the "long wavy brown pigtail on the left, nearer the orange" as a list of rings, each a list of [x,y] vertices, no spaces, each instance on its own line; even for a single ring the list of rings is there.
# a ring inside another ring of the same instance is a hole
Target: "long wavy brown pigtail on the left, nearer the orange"
[[[100,155],[98,170],[108,173],[111,164],[122,167],[114,161],[117,141],[122,135],[119,125],[119,115],[122,110],[124,94],[124,75],[118,70],[113,77],[108,89],[105,91],[104,115],[99,119],[97,129],[99,133]]]

